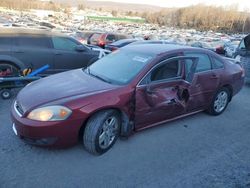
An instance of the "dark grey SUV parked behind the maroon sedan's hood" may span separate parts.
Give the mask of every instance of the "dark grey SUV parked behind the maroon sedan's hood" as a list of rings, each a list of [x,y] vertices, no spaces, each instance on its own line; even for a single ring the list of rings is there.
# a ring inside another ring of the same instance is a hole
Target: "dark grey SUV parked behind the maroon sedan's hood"
[[[36,70],[46,64],[46,76],[58,72],[86,67],[99,58],[92,50],[77,40],[44,30],[23,28],[0,29],[0,71],[9,66],[10,72],[25,68]]]

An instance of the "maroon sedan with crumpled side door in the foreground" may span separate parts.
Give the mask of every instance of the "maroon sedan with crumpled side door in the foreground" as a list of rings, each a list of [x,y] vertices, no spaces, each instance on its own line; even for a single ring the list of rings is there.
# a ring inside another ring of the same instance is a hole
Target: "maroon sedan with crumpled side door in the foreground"
[[[118,136],[204,110],[221,114],[243,83],[239,64],[209,50],[131,45],[26,86],[12,105],[13,130],[40,146],[82,138],[87,151],[102,154]]]

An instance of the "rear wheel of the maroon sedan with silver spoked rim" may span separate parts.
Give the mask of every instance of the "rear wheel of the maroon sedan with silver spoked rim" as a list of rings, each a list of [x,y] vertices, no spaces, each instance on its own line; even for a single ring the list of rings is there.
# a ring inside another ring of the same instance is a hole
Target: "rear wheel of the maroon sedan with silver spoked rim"
[[[220,115],[225,111],[230,100],[230,91],[223,87],[217,91],[210,104],[208,113],[211,115]]]

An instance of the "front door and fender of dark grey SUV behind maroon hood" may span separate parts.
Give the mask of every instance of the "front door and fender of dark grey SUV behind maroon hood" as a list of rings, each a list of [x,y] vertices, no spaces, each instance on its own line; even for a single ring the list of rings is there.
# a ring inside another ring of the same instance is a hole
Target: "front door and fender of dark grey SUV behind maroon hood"
[[[86,67],[92,58],[97,57],[96,53],[69,37],[52,37],[52,43],[55,72]],[[77,51],[79,45],[82,49]]]

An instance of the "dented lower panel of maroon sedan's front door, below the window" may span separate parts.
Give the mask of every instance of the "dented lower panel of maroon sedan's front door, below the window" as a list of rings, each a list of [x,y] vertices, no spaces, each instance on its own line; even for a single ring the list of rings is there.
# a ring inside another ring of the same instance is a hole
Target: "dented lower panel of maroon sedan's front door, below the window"
[[[136,91],[136,128],[164,121],[185,113],[187,100],[179,96],[189,84],[184,80],[143,86]]]

